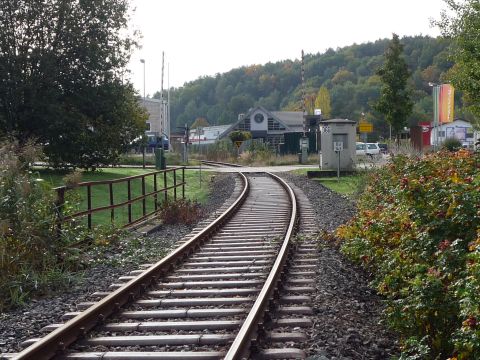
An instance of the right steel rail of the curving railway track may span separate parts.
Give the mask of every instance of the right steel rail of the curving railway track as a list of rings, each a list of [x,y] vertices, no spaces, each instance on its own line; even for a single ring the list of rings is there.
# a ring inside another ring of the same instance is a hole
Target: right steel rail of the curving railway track
[[[292,188],[280,177],[267,173],[274,179],[276,179],[288,192],[289,198],[292,204],[292,211],[290,216],[290,223],[285,232],[285,237],[282,243],[282,247],[278,252],[275,263],[270,270],[268,278],[260,291],[255,303],[253,304],[250,312],[247,315],[242,327],[240,328],[235,340],[233,341],[230,349],[228,350],[225,360],[239,360],[250,358],[250,346],[252,339],[256,336],[260,322],[263,320],[265,310],[270,304],[270,298],[273,295],[274,290],[277,287],[277,282],[280,279],[284,265],[287,261],[288,251],[291,244],[291,237],[294,233],[297,222],[297,201]]]

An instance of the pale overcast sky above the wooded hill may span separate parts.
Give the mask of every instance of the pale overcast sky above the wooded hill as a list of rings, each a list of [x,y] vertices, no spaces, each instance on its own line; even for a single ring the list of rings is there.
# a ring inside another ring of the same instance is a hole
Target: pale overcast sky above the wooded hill
[[[430,26],[443,0],[132,0],[132,28],[142,48],[130,62],[143,95],[160,89],[162,51],[170,86],[233,68],[300,58],[353,43],[402,36],[438,36]]]

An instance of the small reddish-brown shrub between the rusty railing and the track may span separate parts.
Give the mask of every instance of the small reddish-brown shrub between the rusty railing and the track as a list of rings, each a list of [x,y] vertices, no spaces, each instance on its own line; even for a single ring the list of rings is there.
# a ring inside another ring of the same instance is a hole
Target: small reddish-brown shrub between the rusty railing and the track
[[[164,224],[191,225],[202,217],[202,208],[196,201],[168,200],[159,205],[159,217]]]

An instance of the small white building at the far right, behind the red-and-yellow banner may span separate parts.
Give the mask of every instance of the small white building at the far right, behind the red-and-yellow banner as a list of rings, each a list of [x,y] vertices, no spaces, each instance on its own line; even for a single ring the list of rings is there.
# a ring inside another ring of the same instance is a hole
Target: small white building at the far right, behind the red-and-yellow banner
[[[472,124],[465,120],[455,120],[432,128],[430,144],[434,146],[442,145],[447,138],[456,138],[460,140],[464,147],[473,148],[475,134]]]

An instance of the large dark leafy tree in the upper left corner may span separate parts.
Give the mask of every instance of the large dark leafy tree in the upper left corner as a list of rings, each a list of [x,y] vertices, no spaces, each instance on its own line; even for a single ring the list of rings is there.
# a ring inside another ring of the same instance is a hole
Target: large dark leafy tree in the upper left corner
[[[125,67],[128,0],[0,2],[0,132],[56,165],[115,161],[146,118]]]

